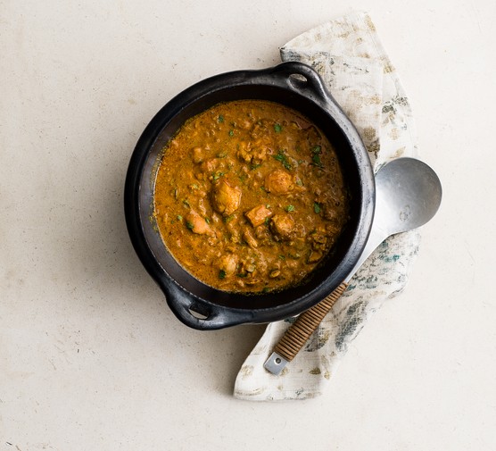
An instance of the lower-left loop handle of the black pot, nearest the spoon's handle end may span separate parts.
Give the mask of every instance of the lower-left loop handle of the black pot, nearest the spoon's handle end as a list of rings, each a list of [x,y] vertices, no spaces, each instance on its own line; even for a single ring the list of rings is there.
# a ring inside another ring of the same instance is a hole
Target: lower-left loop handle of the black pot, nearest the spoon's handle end
[[[175,280],[161,278],[161,289],[167,304],[178,320],[196,330],[218,330],[252,322],[249,310],[232,310],[197,299],[178,286]]]

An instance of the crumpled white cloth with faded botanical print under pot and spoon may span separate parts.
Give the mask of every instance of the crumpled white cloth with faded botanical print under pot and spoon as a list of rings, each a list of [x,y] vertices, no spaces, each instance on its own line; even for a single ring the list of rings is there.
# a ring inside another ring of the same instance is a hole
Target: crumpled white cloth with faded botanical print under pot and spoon
[[[408,99],[367,13],[350,13],[310,29],[280,52],[283,61],[310,64],[322,76],[359,130],[375,171],[399,156],[417,156]],[[418,230],[385,240],[279,376],[263,363],[293,319],[270,323],[237,375],[234,396],[273,401],[320,395],[370,315],[405,287],[419,242]]]

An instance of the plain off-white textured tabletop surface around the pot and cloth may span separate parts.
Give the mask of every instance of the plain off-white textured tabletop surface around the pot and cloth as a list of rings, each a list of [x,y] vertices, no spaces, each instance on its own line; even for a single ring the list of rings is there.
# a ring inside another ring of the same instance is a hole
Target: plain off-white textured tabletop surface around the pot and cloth
[[[407,290],[323,397],[231,397],[262,326],[188,330],[128,241],[122,189],[171,96],[366,9],[444,187]],[[496,447],[496,5],[0,1],[0,451]]]

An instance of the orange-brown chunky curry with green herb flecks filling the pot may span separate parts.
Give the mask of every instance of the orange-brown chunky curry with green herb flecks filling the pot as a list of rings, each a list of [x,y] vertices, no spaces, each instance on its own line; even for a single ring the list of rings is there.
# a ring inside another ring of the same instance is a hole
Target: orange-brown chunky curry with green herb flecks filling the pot
[[[186,271],[237,293],[301,282],[339,237],[348,193],[335,150],[302,114],[262,100],[217,104],[164,149],[161,238]]]

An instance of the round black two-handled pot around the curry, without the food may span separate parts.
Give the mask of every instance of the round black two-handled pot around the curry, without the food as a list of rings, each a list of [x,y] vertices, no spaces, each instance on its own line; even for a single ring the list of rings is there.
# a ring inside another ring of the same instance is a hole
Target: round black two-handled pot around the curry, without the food
[[[191,116],[229,100],[264,99],[285,104],[313,121],[335,145],[351,193],[351,219],[325,263],[300,285],[277,293],[235,295],[194,279],[169,254],[153,224],[153,184],[161,150]],[[199,330],[283,320],[330,294],[357,262],[371,228],[375,183],[359,134],[302,63],[261,71],[233,71],[204,79],[174,97],[146,127],[131,157],[125,186],[128,232],[136,254],[181,322]]]

